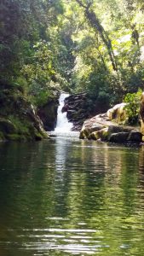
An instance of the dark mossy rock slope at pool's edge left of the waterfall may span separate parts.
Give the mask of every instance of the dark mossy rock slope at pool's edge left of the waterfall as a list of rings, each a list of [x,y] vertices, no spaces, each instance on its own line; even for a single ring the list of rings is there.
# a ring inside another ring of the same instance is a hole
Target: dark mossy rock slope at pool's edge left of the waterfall
[[[43,129],[43,122],[37,116],[35,108],[20,90],[1,90],[0,103],[0,138],[37,140],[49,137]]]

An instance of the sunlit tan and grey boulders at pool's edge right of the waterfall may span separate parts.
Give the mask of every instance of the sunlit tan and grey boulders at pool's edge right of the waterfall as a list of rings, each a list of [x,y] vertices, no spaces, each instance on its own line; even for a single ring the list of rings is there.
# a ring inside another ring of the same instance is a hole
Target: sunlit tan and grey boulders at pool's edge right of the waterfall
[[[126,119],[125,103],[117,104],[107,113],[84,121],[79,138],[111,143],[141,143],[141,132],[133,126],[118,125]]]

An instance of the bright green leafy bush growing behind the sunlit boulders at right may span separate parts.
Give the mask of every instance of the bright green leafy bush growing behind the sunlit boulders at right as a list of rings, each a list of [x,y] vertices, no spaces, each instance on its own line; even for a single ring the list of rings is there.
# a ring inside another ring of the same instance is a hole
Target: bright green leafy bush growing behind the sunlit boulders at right
[[[125,106],[126,113],[128,115],[128,123],[135,125],[138,123],[140,113],[140,100],[142,90],[138,90],[136,93],[128,93],[124,96],[124,102],[128,103]]]

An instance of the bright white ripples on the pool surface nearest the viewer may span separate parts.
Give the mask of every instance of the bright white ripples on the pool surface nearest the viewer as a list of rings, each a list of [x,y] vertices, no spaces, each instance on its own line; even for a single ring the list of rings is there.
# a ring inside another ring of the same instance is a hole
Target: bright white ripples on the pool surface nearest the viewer
[[[11,230],[11,232],[14,231]],[[48,252],[91,255],[101,252],[102,247],[108,247],[101,243],[103,236],[100,236],[100,230],[23,229],[22,234],[19,234],[18,237],[23,241],[19,248],[21,251],[37,251],[37,253],[44,253],[43,255]]]

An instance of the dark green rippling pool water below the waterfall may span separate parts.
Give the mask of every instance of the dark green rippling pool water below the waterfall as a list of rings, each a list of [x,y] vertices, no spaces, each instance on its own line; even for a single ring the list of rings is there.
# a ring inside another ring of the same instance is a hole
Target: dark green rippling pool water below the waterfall
[[[144,255],[144,148],[0,144],[0,256]]]

